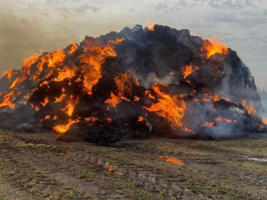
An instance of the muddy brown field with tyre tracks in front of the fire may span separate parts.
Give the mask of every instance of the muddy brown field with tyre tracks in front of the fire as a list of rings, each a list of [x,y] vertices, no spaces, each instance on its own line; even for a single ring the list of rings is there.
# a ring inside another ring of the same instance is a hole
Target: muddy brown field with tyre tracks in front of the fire
[[[256,200],[267,199],[266,186],[266,135],[99,146],[59,142],[52,133],[0,132],[0,200]]]

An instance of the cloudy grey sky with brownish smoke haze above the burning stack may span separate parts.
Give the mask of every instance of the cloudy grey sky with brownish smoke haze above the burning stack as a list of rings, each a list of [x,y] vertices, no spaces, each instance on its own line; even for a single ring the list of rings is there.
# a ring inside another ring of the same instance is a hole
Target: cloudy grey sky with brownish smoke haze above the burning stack
[[[0,0],[0,73],[30,54],[63,49],[148,19],[237,51],[259,87],[267,87],[266,0]]]

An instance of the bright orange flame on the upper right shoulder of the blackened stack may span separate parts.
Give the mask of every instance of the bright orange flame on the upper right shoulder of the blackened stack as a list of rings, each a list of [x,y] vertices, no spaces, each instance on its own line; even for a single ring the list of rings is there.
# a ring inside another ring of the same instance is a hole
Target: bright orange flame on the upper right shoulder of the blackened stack
[[[207,58],[210,58],[210,56],[217,53],[225,55],[228,54],[228,47],[225,44],[219,43],[216,37],[208,38],[208,40],[211,44],[206,40],[204,40],[203,44],[204,48],[207,50]]]

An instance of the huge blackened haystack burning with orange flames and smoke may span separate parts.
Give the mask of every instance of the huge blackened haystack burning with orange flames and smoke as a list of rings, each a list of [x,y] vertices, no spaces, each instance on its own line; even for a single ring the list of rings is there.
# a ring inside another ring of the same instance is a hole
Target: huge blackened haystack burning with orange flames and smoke
[[[0,81],[0,128],[63,141],[266,133],[237,53],[189,30],[136,25],[24,59]]]

